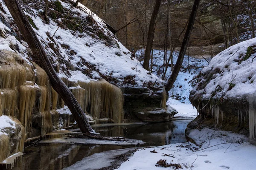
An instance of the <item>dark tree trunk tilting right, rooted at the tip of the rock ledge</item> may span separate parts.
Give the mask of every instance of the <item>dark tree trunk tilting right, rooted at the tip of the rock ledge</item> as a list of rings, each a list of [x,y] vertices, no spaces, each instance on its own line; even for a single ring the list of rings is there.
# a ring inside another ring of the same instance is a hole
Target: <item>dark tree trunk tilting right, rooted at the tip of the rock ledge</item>
[[[194,5],[193,5],[193,8],[192,8],[191,14],[189,16],[189,23],[188,23],[188,26],[187,26],[187,29],[186,29],[186,33],[184,35],[184,39],[183,39],[181,48],[180,48],[180,53],[179,53],[177,62],[175,64],[175,67],[173,69],[172,75],[168,79],[168,83],[166,85],[166,92],[171,90],[171,88],[172,88],[174,82],[176,81],[176,78],[177,78],[177,76],[180,72],[180,68],[182,66],[184,56],[186,54],[186,48],[187,48],[188,43],[189,43],[190,34],[192,32],[192,29],[193,29],[193,26],[194,26],[194,23],[195,23],[195,17],[196,17],[196,13],[197,13],[197,10],[198,10],[199,3],[200,3],[200,0],[195,0],[194,1]]]

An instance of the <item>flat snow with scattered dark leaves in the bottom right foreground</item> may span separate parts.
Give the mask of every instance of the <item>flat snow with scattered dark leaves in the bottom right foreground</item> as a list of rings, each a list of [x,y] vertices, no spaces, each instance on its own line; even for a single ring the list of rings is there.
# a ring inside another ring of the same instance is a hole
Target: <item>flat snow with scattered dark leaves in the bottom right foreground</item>
[[[160,159],[191,170],[255,169],[256,146],[249,144],[244,136],[212,129],[192,130],[190,136],[202,144],[201,148],[190,142],[143,148],[121,164],[118,170],[162,170],[163,167],[155,166]],[[157,153],[150,153],[154,149]],[[174,158],[163,156],[163,153]]]

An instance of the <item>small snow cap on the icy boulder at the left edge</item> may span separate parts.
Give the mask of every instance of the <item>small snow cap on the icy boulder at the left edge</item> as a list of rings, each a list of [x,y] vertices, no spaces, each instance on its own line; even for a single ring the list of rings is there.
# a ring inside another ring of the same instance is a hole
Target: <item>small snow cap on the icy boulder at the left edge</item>
[[[8,135],[6,129],[16,129],[16,123],[9,116],[0,116],[0,135]]]

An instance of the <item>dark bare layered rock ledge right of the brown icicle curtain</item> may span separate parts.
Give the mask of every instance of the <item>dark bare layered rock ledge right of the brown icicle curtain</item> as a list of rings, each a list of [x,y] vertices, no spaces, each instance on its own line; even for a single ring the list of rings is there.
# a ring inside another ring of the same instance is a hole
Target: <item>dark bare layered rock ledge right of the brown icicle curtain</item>
[[[177,113],[174,108],[166,108],[166,92],[163,87],[125,88],[125,119],[128,122],[166,122]]]

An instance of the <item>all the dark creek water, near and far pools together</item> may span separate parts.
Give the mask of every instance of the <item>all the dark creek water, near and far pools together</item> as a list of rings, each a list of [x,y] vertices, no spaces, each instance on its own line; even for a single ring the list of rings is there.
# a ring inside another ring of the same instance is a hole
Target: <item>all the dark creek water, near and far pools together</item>
[[[98,124],[93,129],[102,136],[123,136],[146,142],[141,146],[160,146],[186,142],[185,129],[191,120],[173,120],[164,123]],[[86,139],[85,139],[86,140]],[[27,147],[12,170],[62,170],[94,153],[132,146],[106,144],[38,144]],[[5,167],[0,167],[0,169]],[[11,169],[10,167],[7,169]]]

